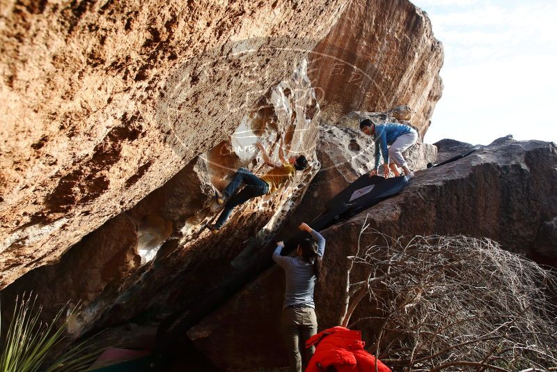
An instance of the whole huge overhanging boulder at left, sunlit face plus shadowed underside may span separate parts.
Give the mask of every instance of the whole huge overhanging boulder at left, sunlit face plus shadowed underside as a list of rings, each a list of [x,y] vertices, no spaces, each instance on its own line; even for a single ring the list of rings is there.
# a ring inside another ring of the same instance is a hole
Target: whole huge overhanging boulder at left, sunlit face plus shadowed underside
[[[320,107],[308,77],[317,62],[307,58],[344,23],[347,3],[7,3],[0,22],[3,302],[33,290],[47,317],[81,301],[77,336],[147,311],[160,319],[191,310],[230,278],[267,263],[269,243],[320,169]],[[438,49],[430,53],[441,58]],[[414,60],[404,63],[415,69]],[[422,79],[437,84],[434,75]],[[392,81],[383,83],[388,91]],[[400,102],[416,103],[405,94]],[[391,114],[408,118],[404,109]],[[352,153],[369,145],[361,134],[330,129],[351,164]],[[239,166],[265,173],[254,144],[276,159],[279,134],[288,155],[304,153],[310,167],[283,192],[235,210],[219,235],[201,232],[215,213],[214,189]],[[434,157],[431,146],[419,148]],[[357,172],[366,169],[353,162]],[[357,173],[334,172],[343,183]],[[9,318],[10,309],[2,311]]]

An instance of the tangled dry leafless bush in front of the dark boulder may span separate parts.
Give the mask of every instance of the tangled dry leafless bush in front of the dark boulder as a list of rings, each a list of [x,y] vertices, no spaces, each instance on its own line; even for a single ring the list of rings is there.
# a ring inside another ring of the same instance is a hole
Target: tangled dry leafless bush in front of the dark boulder
[[[368,297],[382,324],[370,352],[397,371],[547,371],[557,366],[556,274],[489,239],[416,236],[349,257],[348,325]],[[361,238],[361,235],[360,235]],[[378,242],[378,240],[375,240]],[[367,273],[351,283],[354,272]],[[354,270],[354,269],[358,270]],[[360,278],[361,279],[361,278]],[[557,370],[557,369],[556,369]]]

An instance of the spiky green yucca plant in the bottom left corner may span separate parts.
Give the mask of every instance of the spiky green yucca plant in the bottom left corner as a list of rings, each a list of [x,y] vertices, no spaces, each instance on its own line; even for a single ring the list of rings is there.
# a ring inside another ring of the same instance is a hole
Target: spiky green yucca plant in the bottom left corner
[[[54,348],[65,339],[68,321],[77,314],[77,307],[64,306],[50,323],[40,320],[42,307],[37,296],[19,296],[15,300],[13,317],[1,348],[0,372],[84,371],[102,350],[94,350],[94,343],[84,341],[52,360]],[[65,320],[58,325],[63,314]],[[0,323],[1,327],[1,323]],[[1,329],[1,328],[0,328]],[[93,351],[91,351],[93,350]]]

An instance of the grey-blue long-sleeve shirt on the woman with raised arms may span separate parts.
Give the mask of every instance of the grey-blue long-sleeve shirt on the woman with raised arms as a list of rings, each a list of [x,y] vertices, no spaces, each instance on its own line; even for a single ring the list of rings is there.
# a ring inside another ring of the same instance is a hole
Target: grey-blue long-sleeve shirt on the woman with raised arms
[[[325,251],[325,238],[317,231],[311,235],[317,241],[317,254],[322,257]],[[313,307],[313,290],[315,289],[315,274],[313,263],[306,263],[301,257],[281,256],[283,245],[278,245],[273,253],[273,261],[284,269],[286,275],[286,289],[283,309],[290,305]]]

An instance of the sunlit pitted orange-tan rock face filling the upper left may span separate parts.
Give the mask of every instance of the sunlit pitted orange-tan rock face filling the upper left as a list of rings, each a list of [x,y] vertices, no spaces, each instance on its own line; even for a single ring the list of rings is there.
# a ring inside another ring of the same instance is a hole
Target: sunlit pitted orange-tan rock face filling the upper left
[[[230,141],[244,116],[285,131],[265,95],[345,3],[6,3],[0,287]]]

